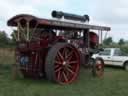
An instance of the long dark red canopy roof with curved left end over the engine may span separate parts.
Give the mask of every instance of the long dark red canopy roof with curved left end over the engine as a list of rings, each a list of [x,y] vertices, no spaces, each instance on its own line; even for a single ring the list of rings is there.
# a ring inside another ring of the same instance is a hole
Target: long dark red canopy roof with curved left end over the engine
[[[8,20],[7,25],[17,27],[18,22],[20,22],[22,26],[26,26],[27,22],[29,22],[29,27],[31,28],[37,25],[37,28],[48,27],[54,29],[82,29],[82,30],[92,29],[92,30],[102,30],[102,31],[111,30],[110,27],[106,27],[106,26],[96,26],[96,25],[90,25],[84,23],[71,23],[61,20],[44,19],[28,14],[20,14],[12,17],[10,20]]]

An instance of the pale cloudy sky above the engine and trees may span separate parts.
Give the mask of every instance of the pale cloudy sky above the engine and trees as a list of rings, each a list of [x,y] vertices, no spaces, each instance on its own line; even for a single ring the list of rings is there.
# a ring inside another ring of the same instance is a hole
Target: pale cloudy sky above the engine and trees
[[[51,18],[52,10],[88,14],[90,23],[111,27],[114,41],[128,40],[128,0],[0,0],[0,30],[11,34],[6,22],[16,14]]]

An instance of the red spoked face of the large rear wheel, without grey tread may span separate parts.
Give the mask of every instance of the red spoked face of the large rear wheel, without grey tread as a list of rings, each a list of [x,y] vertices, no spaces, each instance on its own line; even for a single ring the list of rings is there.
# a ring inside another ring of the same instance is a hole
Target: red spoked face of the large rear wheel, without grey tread
[[[72,46],[65,46],[58,50],[54,64],[56,81],[60,84],[71,83],[79,73],[79,53]]]

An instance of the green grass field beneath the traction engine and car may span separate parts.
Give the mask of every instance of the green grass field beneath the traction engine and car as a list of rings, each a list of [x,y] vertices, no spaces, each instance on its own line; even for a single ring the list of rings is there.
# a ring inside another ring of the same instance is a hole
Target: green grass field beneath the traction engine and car
[[[81,68],[78,80],[70,85],[58,85],[47,80],[12,79],[13,55],[0,61],[0,96],[127,96],[128,72],[121,68],[105,68],[103,78],[94,78]]]

